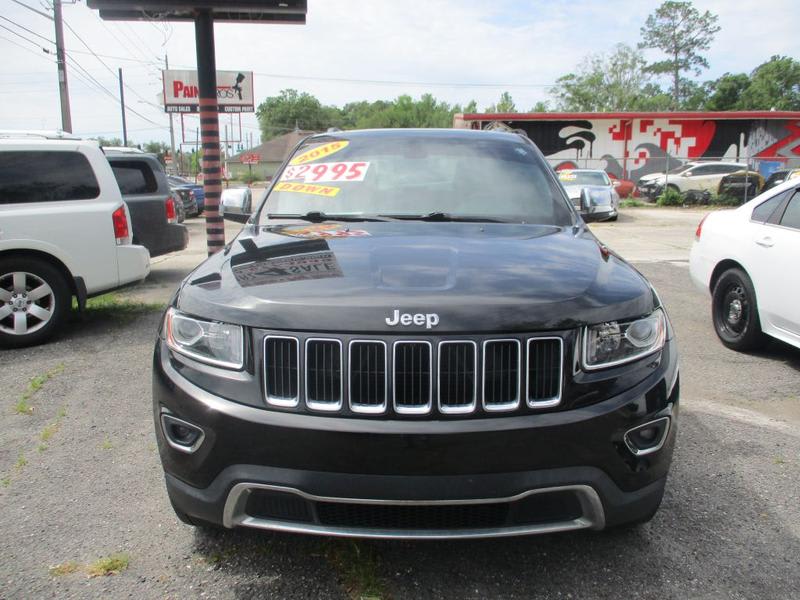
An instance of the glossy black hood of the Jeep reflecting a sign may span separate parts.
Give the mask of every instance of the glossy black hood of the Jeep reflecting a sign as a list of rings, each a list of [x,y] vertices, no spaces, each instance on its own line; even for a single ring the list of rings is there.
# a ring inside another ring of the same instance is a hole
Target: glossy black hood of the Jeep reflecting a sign
[[[399,221],[245,226],[175,298],[252,327],[417,335],[566,329],[656,303],[584,226]],[[390,327],[395,310],[438,325]]]

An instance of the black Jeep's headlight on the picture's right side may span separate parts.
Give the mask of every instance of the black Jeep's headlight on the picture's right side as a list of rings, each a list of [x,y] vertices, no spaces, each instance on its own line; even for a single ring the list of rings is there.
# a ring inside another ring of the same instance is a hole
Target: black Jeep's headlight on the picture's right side
[[[583,331],[583,366],[591,371],[631,362],[661,350],[666,337],[666,317],[660,308],[635,321],[591,325]]]

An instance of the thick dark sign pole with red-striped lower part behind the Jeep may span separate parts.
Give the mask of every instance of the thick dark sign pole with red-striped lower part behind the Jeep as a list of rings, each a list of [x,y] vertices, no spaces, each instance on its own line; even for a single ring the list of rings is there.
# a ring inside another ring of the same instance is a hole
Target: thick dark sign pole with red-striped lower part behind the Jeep
[[[197,11],[194,20],[197,45],[197,82],[200,96],[200,143],[203,148],[208,255],[225,245],[225,224],[219,213],[222,195],[220,168],[219,108],[217,106],[217,61],[214,49],[214,18],[210,10]]]

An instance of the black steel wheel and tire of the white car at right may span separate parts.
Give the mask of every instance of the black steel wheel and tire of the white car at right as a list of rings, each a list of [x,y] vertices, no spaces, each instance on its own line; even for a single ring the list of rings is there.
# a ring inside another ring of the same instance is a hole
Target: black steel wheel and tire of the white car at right
[[[731,350],[757,350],[766,341],[753,282],[740,268],[728,269],[714,285],[711,317],[720,341]]]

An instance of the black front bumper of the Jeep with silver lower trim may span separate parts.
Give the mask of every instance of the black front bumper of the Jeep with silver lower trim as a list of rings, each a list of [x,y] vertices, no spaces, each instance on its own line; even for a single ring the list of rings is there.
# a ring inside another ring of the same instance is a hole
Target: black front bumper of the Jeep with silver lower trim
[[[159,341],[154,416],[175,508],[223,524],[312,534],[451,538],[603,529],[644,519],[663,494],[679,382],[668,342],[633,388],[572,410],[469,420],[291,414],[222,399],[180,374]],[[161,414],[203,429],[193,453]],[[669,417],[635,456],[626,431]]]

